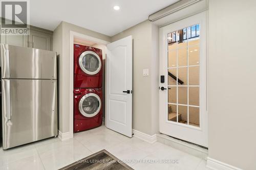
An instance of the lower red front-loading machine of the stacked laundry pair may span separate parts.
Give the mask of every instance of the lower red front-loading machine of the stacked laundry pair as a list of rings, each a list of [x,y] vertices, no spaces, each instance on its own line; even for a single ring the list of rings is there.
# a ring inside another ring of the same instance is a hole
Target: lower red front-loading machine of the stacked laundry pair
[[[74,89],[74,132],[101,126],[102,89]]]

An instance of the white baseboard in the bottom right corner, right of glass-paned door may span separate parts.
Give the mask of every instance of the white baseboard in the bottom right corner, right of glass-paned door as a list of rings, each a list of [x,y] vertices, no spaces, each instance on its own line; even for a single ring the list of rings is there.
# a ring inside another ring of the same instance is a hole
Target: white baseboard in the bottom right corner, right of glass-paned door
[[[206,167],[208,167],[210,169],[214,169],[214,170],[243,170],[238,167],[229,165],[227,163],[224,163],[224,162],[221,162],[216,159],[209,158],[209,157],[207,158]]]

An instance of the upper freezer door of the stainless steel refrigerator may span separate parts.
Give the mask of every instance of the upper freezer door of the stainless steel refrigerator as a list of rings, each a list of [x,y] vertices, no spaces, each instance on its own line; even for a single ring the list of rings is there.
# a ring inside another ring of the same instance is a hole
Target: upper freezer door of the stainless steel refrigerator
[[[2,79],[57,79],[56,53],[1,44]]]

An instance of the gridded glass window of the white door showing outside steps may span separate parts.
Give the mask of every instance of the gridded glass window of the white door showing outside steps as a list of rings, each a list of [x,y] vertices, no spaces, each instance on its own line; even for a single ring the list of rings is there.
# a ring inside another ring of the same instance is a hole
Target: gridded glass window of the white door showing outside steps
[[[195,117],[195,115],[199,115],[199,97],[197,95],[194,95],[195,92],[197,94],[198,89],[200,88],[200,82],[199,82],[199,70],[200,70],[200,63],[199,61],[199,36],[200,36],[200,25],[193,25],[187,28],[184,28],[182,30],[178,30],[172,33],[169,33],[167,35],[168,37],[168,54],[173,53],[175,58],[176,53],[176,61],[174,61],[174,58],[172,59],[174,64],[169,64],[167,67],[167,70],[171,72],[172,75],[175,75],[175,77],[172,76],[172,82],[175,84],[169,84],[169,77],[168,77],[168,91],[176,91],[175,96],[171,95],[169,96],[168,92],[168,98],[171,97],[172,101],[174,101],[174,98],[176,102],[168,102],[168,110],[169,106],[173,106],[175,109],[175,112],[172,113],[172,115],[176,114],[176,122],[182,123],[188,126],[196,126],[199,127],[199,118]],[[170,37],[170,38],[169,38]],[[184,58],[184,52],[186,53],[186,57]],[[194,52],[194,53],[193,53]],[[198,57],[193,57],[196,54],[198,54]],[[193,60],[192,60],[193,59]],[[169,57],[168,57],[169,60]],[[186,61],[185,61],[186,60]],[[191,61],[189,61],[191,60]],[[172,61],[168,61],[172,62]],[[191,65],[189,65],[191,64]],[[190,69],[191,68],[191,69]],[[193,69],[192,69],[193,68]],[[186,74],[185,72],[186,71]],[[185,78],[185,77],[186,78]],[[178,81],[181,80],[181,81]],[[174,88],[174,89],[173,89]],[[194,90],[194,91],[191,91]],[[190,96],[189,96],[190,95]],[[199,94],[198,94],[199,96]],[[195,99],[196,98],[196,101]],[[185,100],[185,101],[184,101]],[[197,101],[198,100],[198,101]],[[169,101],[169,100],[168,100]],[[191,105],[190,103],[198,104],[197,105]],[[193,109],[198,108],[198,109]],[[172,110],[172,109],[170,109]],[[193,112],[191,112],[193,111]],[[191,115],[189,115],[189,112],[191,112]],[[169,113],[169,111],[168,111]],[[193,114],[192,114],[193,113]],[[182,117],[185,115],[185,117]],[[169,117],[169,116],[168,116]],[[184,119],[184,120],[183,120]],[[194,122],[191,123],[189,119],[194,119]],[[169,118],[168,118],[169,120]],[[174,119],[172,119],[173,122]],[[195,124],[196,123],[196,124]],[[190,125],[191,124],[191,125]]]

